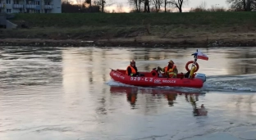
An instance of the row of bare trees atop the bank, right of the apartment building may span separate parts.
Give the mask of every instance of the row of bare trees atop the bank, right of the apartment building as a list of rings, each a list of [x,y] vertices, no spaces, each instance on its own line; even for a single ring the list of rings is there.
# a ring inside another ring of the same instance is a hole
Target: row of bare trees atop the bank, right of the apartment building
[[[76,0],[76,4],[68,0],[62,1],[62,12],[104,12],[105,7],[112,5],[112,0]],[[127,0],[130,4],[130,12],[170,12],[176,9],[183,11],[185,5],[189,5],[193,0]],[[212,6],[206,9],[206,3],[202,2],[198,7],[190,10],[196,11],[254,11],[256,10],[256,0],[226,0],[230,4],[230,9]],[[117,6],[117,9],[121,6]],[[121,10],[119,10],[121,11]]]

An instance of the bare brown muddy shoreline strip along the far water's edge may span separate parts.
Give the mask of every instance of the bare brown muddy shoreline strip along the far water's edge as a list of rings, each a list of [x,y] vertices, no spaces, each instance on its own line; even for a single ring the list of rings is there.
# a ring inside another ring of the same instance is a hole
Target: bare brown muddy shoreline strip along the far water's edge
[[[142,36],[137,38],[0,38],[0,46],[25,47],[256,47],[255,33],[216,34],[219,38],[194,34],[190,38],[159,38]],[[223,37],[223,38],[222,38]]]

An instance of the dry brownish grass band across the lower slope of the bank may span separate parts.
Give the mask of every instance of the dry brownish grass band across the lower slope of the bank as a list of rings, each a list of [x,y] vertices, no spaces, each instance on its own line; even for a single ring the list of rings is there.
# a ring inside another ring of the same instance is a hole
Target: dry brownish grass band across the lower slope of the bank
[[[222,26],[222,25],[168,25],[168,26],[126,26],[112,28],[80,27],[80,28],[31,28],[2,29],[0,38],[45,38],[45,39],[111,39],[111,38],[143,38],[146,36],[166,39],[188,38],[226,38],[228,34],[255,34],[254,25]],[[239,36],[240,37],[240,36]],[[233,38],[235,39],[235,38]]]

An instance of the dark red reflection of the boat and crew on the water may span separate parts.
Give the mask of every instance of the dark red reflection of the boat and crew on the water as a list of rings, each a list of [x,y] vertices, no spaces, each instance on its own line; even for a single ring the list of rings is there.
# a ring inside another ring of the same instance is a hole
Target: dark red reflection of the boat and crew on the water
[[[138,105],[136,106],[136,102],[140,100],[140,102],[143,102],[145,98],[138,99],[138,93],[139,94],[149,94],[152,95],[149,98],[146,98],[146,100],[149,100],[150,102],[147,102],[149,106],[151,106],[151,110],[153,110],[153,106],[155,106],[155,103],[162,104],[162,102],[167,101],[167,105],[171,107],[175,107],[174,105],[178,102],[176,102],[176,98],[179,96],[185,97],[185,101],[189,102],[193,109],[193,115],[194,116],[203,116],[208,115],[208,111],[206,110],[205,106],[201,104],[201,106],[197,106],[196,102],[199,102],[199,96],[203,96],[204,93],[185,93],[175,90],[167,90],[167,89],[149,89],[149,88],[136,88],[136,87],[116,87],[111,86],[110,87],[110,93],[116,94],[119,96],[123,96],[123,94],[126,94],[127,102],[130,103],[131,109],[139,109]],[[153,100],[158,100],[158,102],[153,102]],[[184,102],[184,100],[181,100],[179,102]],[[181,103],[182,104],[182,103]]]

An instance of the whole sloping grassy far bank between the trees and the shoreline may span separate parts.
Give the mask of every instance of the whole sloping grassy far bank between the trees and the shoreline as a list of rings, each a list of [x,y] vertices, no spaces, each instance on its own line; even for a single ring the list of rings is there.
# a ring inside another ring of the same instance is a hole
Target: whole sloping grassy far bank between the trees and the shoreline
[[[256,37],[256,12],[16,14],[11,21],[29,29],[2,30],[1,38],[252,46]]]

